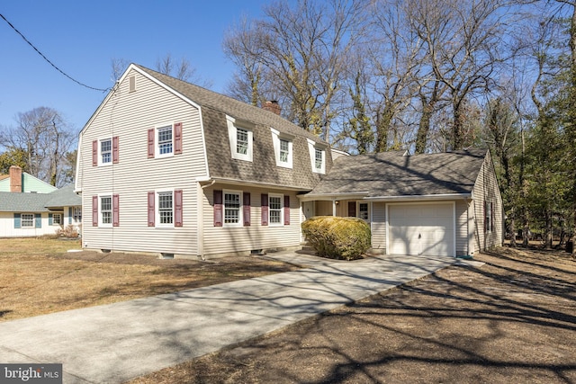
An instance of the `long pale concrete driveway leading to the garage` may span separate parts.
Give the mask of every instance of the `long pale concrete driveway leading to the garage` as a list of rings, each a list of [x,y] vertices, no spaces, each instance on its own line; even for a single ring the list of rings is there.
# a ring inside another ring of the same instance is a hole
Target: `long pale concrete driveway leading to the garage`
[[[354,262],[279,252],[309,265],[256,279],[0,323],[0,362],[63,364],[65,383],[119,383],[391,289],[455,259]]]

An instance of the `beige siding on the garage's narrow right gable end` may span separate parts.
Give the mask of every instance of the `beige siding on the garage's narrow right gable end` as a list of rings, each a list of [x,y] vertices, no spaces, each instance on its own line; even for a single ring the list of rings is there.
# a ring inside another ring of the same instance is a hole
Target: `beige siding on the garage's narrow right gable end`
[[[484,202],[493,203],[494,228],[491,232],[484,231]],[[504,219],[502,212],[502,197],[490,156],[482,165],[473,189],[474,251],[482,252],[494,246],[501,246],[504,239]]]

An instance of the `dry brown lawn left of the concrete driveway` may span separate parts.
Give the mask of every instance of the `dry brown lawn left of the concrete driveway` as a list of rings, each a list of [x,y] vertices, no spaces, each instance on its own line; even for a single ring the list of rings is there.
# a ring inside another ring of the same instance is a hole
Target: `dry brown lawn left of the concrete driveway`
[[[67,252],[77,240],[0,239],[0,321],[137,299],[297,269],[249,257],[212,261]]]

